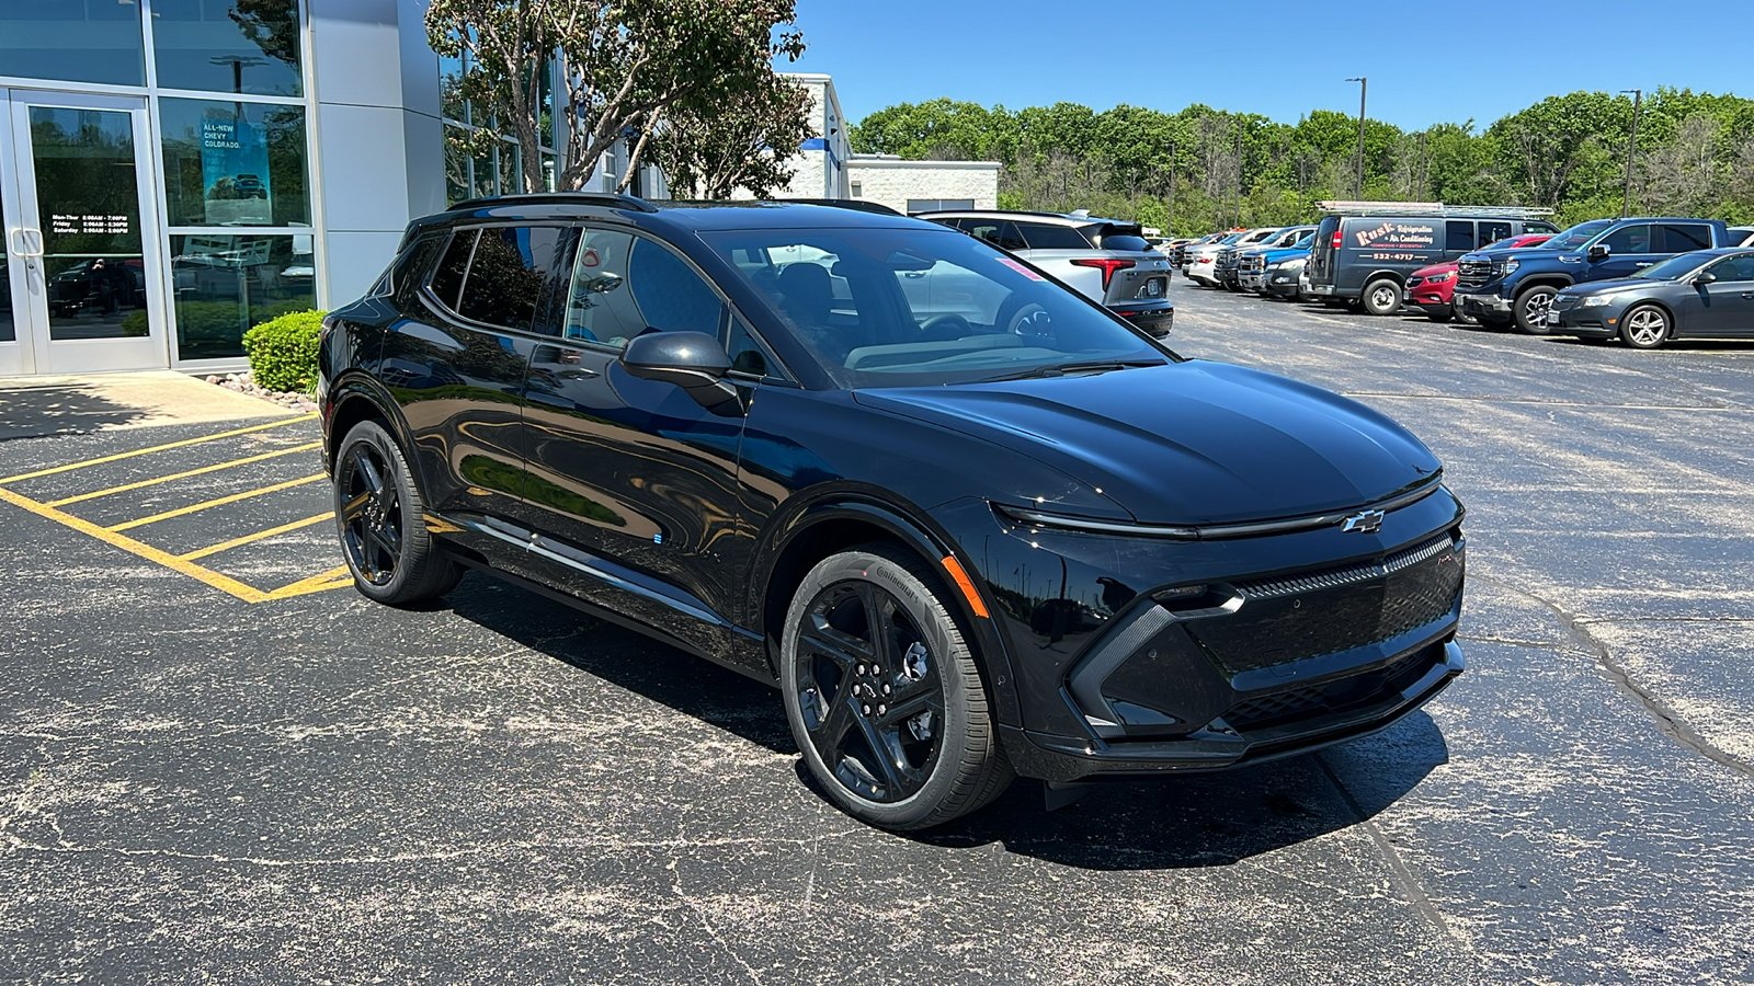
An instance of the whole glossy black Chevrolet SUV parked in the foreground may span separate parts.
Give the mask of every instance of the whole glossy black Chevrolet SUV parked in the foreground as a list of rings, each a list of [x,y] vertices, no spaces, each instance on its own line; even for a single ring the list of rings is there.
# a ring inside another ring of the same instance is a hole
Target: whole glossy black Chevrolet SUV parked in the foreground
[[[1417,439],[924,221],[467,202],[328,316],[319,405],[361,593],[482,568],[774,682],[875,825],[1301,753],[1463,667]]]

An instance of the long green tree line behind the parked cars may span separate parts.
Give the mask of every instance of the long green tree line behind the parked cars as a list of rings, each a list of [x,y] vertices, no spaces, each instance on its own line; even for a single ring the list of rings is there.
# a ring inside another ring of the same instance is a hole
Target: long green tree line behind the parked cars
[[[1533,205],[1575,223],[1619,216],[1633,100],[1549,96],[1486,126],[1421,132],[1310,111],[1294,125],[1189,105],[1180,112],[1079,104],[1007,111],[938,98],[881,109],[852,149],[914,160],[1000,161],[1000,207],[1133,219],[1175,235],[1310,221],[1330,198]],[[1661,88],[1631,149],[1631,212],[1754,223],[1754,100]]]

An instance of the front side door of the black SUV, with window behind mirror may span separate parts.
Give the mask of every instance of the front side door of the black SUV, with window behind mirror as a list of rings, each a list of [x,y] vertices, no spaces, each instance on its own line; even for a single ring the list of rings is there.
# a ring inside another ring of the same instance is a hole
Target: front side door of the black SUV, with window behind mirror
[[[651,332],[703,332],[756,374],[766,356],[733,337],[730,307],[668,246],[582,226],[553,332],[535,347],[524,412],[524,519],[556,581],[617,612],[728,653],[728,572],[738,565],[740,416],[617,361]]]

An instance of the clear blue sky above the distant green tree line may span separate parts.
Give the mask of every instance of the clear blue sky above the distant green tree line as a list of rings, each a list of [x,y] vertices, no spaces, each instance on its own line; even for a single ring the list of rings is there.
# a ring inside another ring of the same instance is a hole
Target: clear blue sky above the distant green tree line
[[[854,123],[937,96],[1294,123],[1356,114],[1352,75],[1405,130],[1575,89],[1754,96],[1754,0],[798,0],[798,28],[809,51],[782,70],[833,75]]]

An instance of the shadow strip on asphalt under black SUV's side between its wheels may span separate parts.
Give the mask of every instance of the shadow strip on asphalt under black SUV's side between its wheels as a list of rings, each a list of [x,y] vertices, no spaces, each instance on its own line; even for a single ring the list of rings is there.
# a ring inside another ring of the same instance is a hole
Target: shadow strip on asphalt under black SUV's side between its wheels
[[[798,753],[779,691],[709,660],[479,572],[435,607],[774,753]]]

